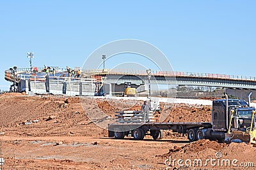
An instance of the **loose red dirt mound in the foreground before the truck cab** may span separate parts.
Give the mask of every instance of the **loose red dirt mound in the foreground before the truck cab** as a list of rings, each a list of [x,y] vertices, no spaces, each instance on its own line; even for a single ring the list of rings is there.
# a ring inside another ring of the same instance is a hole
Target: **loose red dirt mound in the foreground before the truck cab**
[[[227,167],[233,167],[236,169],[237,166],[241,165],[241,163],[250,164],[250,162],[253,162],[254,158],[252,155],[255,155],[255,153],[256,148],[251,145],[247,145],[246,143],[226,144],[202,139],[184,146],[173,146],[173,148],[171,148],[169,152],[164,154],[162,157],[172,160],[191,160],[191,162],[194,160],[202,160],[202,167],[212,169],[227,169]],[[211,159],[219,161],[220,164],[212,166],[212,164],[207,162],[207,160]],[[221,164],[221,162],[225,162],[226,160],[230,162],[232,162],[232,160],[237,160],[237,162],[235,162],[236,164],[230,163],[230,166]],[[177,166],[175,162],[172,166],[179,169],[179,166]],[[246,167],[245,169],[250,168],[253,167]]]

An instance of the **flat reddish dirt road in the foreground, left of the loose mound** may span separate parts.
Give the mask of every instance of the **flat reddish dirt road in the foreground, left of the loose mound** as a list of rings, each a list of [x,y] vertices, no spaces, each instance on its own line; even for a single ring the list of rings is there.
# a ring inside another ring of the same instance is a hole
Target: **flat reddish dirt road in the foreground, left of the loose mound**
[[[10,169],[163,169],[164,159],[157,156],[188,143],[52,136],[3,136],[2,141],[4,166]]]

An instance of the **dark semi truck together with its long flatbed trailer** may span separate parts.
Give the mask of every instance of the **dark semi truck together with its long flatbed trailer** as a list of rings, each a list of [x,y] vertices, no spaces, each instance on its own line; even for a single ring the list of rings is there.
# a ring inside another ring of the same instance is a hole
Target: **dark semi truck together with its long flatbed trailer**
[[[150,135],[157,140],[163,138],[164,130],[172,130],[182,133],[183,136],[188,134],[191,142],[210,139],[255,144],[255,108],[250,106],[251,94],[248,95],[248,103],[242,99],[228,99],[227,94],[225,94],[226,99],[212,101],[211,122],[143,122],[145,118],[141,120],[132,118],[136,114],[122,113],[116,115],[119,121],[108,124],[108,136],[124,139],[131,134],[134,139],[141,140],[145,135]],[[138,114],[140,115],[135,117],[140,118],[141,115],[145,115],[142,112]],[[132,117],[125,119],[125,115]]]

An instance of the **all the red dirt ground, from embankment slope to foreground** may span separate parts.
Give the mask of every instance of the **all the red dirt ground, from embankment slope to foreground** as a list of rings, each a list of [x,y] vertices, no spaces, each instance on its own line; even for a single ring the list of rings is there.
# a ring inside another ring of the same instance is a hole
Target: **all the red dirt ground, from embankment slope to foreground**
[[[86,98],[83,104],[85,113],[79,97],[0,95],[0,146],[5,159],[2,169],[184,169],[177,164],[166,166],[164,161],[170,156],[177,160],[216,159],[216,152],[221,152],[223,159],[254,160],[256,149],[250,145],[208,140],[189,143],[186,136],[172,131],[165,131],[166,136],[160,141],[150,136],[143,141],[108,138],[108,131],[93,124],[86,115],[97,115],[102,110],[115,117],[115,111],[121,108],[140,110],[142,101]],[[168,113],[164,122],[211,121],[211,106],[175,104]]]

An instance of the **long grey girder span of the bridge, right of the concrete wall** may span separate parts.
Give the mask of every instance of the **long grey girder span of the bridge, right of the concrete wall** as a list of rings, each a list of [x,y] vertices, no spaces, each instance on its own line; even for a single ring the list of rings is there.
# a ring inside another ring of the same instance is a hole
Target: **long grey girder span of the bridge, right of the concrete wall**
[[[131,81],[133,84],[140,85],[148,82],[148,75],[147,73],[143,73],[143,71],[137,71],[136,73],[111,71],[106,74],[97,73],[97,75],[106,76],[107,83],[122,84],[125,81]],[[225,87],[230,89],[256,89],[255,77],[176,71],[153,71],[150,83],[164,85]]]

